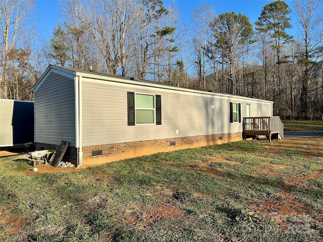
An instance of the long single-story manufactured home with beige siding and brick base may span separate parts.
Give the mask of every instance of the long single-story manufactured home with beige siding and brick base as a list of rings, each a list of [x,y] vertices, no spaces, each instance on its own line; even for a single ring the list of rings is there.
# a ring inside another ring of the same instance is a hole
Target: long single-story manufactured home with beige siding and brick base
[[[66,160],[89,166],[243,139],[243,118],[273,102],[49,66],[33,87],[35,143],[69,142]]]

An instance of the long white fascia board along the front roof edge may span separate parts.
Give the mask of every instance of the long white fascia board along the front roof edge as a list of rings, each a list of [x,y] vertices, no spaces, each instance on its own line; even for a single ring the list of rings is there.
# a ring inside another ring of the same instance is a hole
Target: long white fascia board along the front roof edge
[[[208,92],[208,91],[200,91],[200,90],[194,90],[194,89],[188,89],[188,88],[181,88],[176,86],[167,86],[167,85],[160,85],[160,84],[154,84],[146,83],[146,82],[140,82],[140,81],[132,81],[132,80],[125,80],[121,78],[114,78],[114,77],[104,77],[99,76],[95,74],[87,74],[87,73],[78,73],[76,72],[76,76],[82,76],[84,78],[88,79],[94,79],[97,81],[110,81],[110,82],[116,82],[116,83],[124,83],[124,84],[131,84],[131,85],[137,85],[137,86],[145,86],[145,87],[153,87],[153,88],[159,88],[159,89],[167,89],[167,90],[174,90],[174,91],[181,91],[181,92],[188,92],[188,93],[197,93],[197,94],[203,94],[203,95],[210,95],[210,96],[220,96],[220,97],[226,97],[226,98],[235,98],[239,100],[248,100],[248,101],[260,101],[260,102],[267,102],[267,103],[274,103],[273,101],[263,100],[263,99],[257,99],[257,98],[250,98],[250,97],[243,97],[243,96],[237,96],[227,93],[219,93],[219,92]]]

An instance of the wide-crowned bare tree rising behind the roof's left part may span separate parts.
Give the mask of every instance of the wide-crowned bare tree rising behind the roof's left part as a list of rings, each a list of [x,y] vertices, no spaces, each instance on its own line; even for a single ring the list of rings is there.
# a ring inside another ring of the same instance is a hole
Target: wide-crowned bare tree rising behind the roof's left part
[[[79,15],[89,26],[107,71],[126,74],[126,59],[131,55],[139,34],[148,25],[142,6],[136,0],[89,1]]]

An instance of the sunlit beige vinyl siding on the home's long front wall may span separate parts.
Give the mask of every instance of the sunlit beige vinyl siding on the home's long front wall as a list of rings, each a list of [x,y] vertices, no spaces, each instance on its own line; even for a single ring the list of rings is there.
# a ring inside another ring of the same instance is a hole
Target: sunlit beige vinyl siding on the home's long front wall
[[[128,91],[161,95],[162,124],[128,126]],[[83,78],[83,146],[242,132],[242,123],[230,123],[230,102],[241,103],[242,117],[246,102],[251,103],[252,115],[271,115],[271,103],[261,100]]]

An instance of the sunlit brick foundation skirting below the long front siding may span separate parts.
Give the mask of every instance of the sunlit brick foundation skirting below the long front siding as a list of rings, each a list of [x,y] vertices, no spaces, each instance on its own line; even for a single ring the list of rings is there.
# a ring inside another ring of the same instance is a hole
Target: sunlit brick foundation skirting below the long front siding
[[[242,140],[242,132],[83,146],[83,166]],[[93,152],[93,153],[92,153]],[[99,154],[99,155],[96,155]]]

